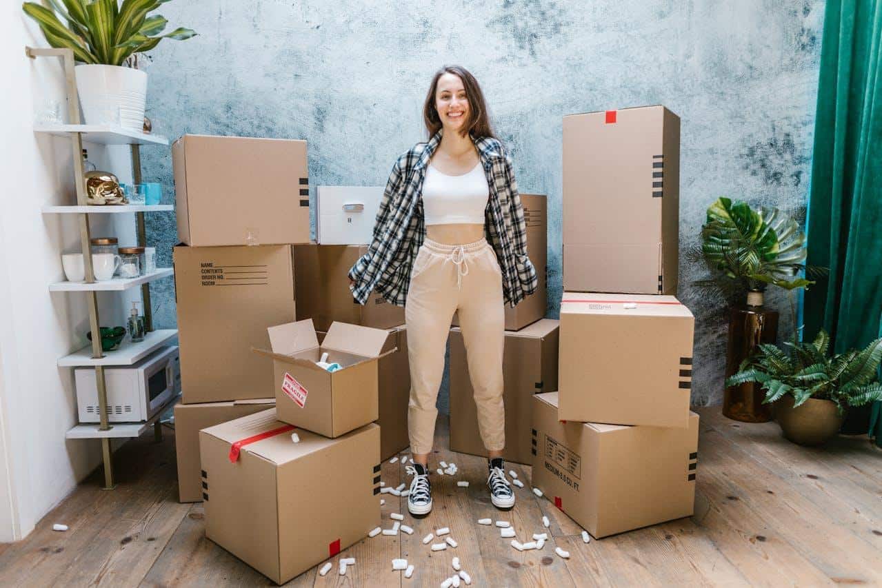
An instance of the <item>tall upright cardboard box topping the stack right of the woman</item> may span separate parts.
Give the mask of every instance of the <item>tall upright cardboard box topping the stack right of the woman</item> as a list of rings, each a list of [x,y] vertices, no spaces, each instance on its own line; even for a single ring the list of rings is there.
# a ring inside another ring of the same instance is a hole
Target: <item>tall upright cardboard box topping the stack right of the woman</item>
[[[676,294],[680,119],[564,116],[564,290]]]

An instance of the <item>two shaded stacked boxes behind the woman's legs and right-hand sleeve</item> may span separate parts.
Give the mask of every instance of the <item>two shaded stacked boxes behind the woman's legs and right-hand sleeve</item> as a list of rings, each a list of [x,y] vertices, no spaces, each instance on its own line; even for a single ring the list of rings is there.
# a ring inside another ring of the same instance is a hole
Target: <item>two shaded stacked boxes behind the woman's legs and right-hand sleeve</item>
[[[527,221],[527,255],[536,268],[539,287],[514,308],[505,306],[505,452],[509,461],[530,462],[530,398],[538,392],[557,390],[557,321],[544,319],[547,302],[546,197],[521,194]],[[459,316],[453,315],[450,330],[450,449],[486,456],[478,431],[474,391],[468,376],[465,343]]]

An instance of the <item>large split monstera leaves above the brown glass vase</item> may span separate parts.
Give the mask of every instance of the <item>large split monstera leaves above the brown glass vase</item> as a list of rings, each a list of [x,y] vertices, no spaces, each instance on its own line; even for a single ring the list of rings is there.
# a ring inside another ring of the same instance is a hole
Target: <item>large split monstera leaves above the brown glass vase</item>
[[[798,274],[806,269],[805,235],[777,208],[754,210],[746,202],[717,198],[707,209],[701,252],[724,287],[793,290],[814,284]],[[813,269],[810,273],[815,272]]]

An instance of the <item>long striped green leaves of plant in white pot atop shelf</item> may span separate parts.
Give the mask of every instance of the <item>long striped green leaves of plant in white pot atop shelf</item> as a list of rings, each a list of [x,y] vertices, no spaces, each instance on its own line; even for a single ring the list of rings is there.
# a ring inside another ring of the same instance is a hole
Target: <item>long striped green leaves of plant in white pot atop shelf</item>
[[[168,0],[49,0],[51,9],[26,2],[22,10],[36,20],[49,45],[70,48],[80,63],[123,65],[134,54],[149,51],[163,39],[183,41],[196,35],[179,27],[160,35],[168,20],[149,12]],[[67,23],[65,26],[62,20]]]

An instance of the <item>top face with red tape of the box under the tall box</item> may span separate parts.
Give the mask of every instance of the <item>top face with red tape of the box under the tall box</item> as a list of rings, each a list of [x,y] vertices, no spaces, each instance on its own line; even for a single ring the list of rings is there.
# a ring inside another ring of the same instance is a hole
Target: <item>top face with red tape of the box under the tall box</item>
[[[580,315],[692,317],[690,310],[674,296],[659,294],[564,292],[560,312]]]

